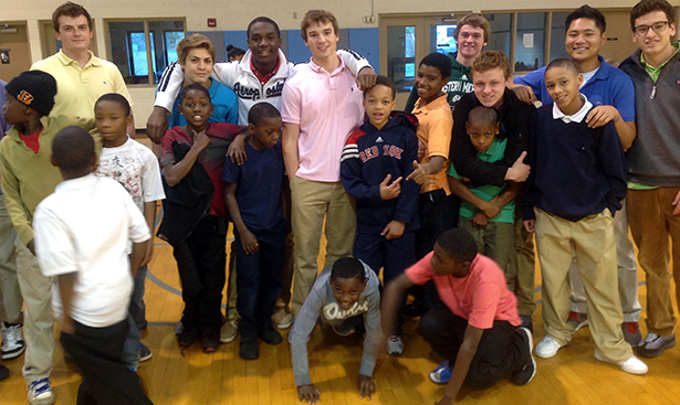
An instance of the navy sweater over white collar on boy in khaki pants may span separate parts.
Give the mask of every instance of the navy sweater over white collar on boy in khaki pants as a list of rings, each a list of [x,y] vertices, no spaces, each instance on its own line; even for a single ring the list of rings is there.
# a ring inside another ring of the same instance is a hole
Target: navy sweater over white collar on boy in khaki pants
[[[524,221],[536,206],[568,221],[609,209],[626,198],[624,148],[613,122],[588,128],[586,120],[566,124],[553,118],[553,104],[531,118],[531,175],[522,199]]]

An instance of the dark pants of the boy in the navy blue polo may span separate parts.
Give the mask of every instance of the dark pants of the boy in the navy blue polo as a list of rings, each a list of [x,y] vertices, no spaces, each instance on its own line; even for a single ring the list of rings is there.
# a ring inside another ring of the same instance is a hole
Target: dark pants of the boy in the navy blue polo
[[[251,230],[258,239],[258,252],[243,251],[241,235],[237,241],[237,310],[241,316],[241,341],[255,340],[274,313],[276,297],[281,292],[281,271],[285,255],[285,221],[271,230]]]

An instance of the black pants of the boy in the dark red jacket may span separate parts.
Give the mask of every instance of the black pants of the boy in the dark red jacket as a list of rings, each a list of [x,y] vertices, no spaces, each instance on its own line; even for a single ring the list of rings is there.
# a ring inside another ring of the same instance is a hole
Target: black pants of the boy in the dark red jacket
[[[208,215],[184,243],[174,246],[185,301],[181,321],[187,330],[196,330],[199,334],[219,332],[222,326],[220,306],[227,271],[226,244],[227,222]]]

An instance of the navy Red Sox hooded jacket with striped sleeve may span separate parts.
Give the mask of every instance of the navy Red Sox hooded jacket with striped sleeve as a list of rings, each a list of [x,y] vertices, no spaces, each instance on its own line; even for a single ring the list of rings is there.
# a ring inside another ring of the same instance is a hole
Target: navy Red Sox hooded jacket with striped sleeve
[[[379,235],[391,221],[406,223],[405,232],[420,226],[420,184],[406,181],[414,171],[414,160],[418,160],[417,127],[415,116],[393,113],[381,129],[366,120],[345,142],[341,179],[357,200],[357,232]],[[391,174],[391,181],[404,178],[401,193],[393,200],[380,199],[380,183],[387,174]]]

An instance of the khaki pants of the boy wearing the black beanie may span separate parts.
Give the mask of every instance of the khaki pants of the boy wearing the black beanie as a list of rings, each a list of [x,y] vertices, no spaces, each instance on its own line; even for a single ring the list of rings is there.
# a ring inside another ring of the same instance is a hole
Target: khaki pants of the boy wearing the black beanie
[[[49,377],[52,372],[52,354],[54,353],[52,277],[43,276],[38,258],[19,237],[14,241],[18,252],[19,287],[25,302],[23,376],[32,383]]]

